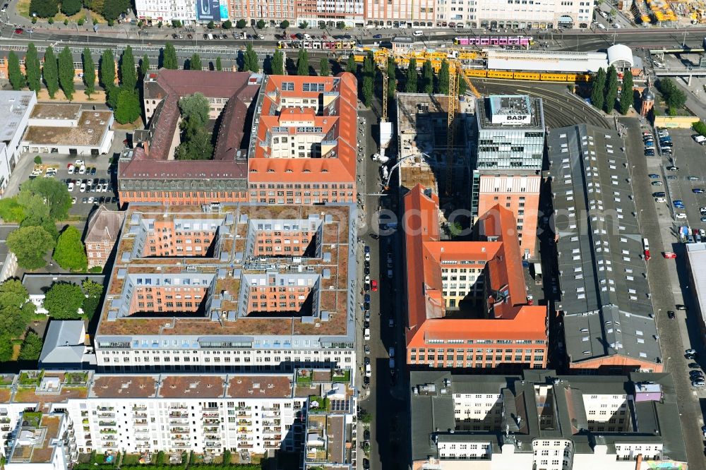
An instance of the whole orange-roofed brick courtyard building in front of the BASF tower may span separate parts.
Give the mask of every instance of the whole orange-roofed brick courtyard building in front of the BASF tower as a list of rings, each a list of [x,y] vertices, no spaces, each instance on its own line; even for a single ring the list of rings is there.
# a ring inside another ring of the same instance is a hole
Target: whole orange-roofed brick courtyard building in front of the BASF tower
[[[449,241],[438,196],[417,185],[404,201],[409,366],[544,368],[546,306],[528,297],[512,213],[493,207],[479,241]]]

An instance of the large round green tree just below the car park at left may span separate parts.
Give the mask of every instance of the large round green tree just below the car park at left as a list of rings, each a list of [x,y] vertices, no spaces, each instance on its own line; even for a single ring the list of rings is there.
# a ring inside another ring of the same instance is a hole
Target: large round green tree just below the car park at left
[[[29,196],[40,198],[42,207],[32,207],[36,201]],[[35,178],[22,183],[18,195],[20,204],[25,207],[28,217],[51,218],[64,220],[71,209],[71,193],[66,191],[66,185],[53,178]],[[44,214],[47,215],[44,215]],[[53,248],[53,247],[52,247]]]

